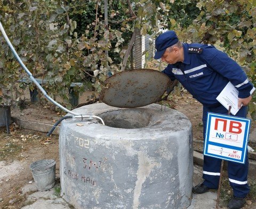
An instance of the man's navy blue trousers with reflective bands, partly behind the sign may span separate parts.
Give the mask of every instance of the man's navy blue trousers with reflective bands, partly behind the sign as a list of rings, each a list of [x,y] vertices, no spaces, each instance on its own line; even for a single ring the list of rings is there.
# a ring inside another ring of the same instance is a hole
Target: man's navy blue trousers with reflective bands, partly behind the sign
[[[241,110],[239,110],[235,116],[246,118],[246,113],[247,113],[246,111],[247,111],[247,108],[242,107]],[[205,133],[207,112],[228,114],[227,109],[222,105],[215,108],[203,107],[203,125],[204,125],[203,133]],[[204,138],[205,138],[205,134],[204,134]],[[210,156],[204,156],[203,178],[204,178],[204,185],[206,187],[209,187],[212,189],[218,188],[219,179],[220,179],[220,167],[221,167],[220,159],[210,157]],[[245,164],[228,161],[229,183],[230,183],[230,186],[233,188],[233,194],[236,197],[246,197],[246,195],[250,191],[250,187],[247,184],[248,167],[249,167],[249,163],[248,163],[247,153],[246,153]]]

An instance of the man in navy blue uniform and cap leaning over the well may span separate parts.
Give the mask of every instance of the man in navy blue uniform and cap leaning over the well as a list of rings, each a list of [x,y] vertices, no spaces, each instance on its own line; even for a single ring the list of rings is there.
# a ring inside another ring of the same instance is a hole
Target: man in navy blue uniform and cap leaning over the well
[[[211,45],[181,43],[174,31],[159,35],[155,47],[157,51],[154,58],[161,58],[168,64],[163,72],[171,80],[177,79],[203,104],[204,133],[207,112],[228,114],[216,97],[229,81],[239,92],[239,111],[236,116],[246,118],[246,105],[251,101],[255,88],[241,67],[227,54]],[[228,162],[229,183],[234,194],[228,203],[230,209],[239,209],[245,204],[245,197],[250,191],[247,184],[248,166],[248,157],[245,164]],[[220,167],[220,159],[204,156],[204,182],[193,187],[193,193],[203,194],[211,189],[218,189]]]

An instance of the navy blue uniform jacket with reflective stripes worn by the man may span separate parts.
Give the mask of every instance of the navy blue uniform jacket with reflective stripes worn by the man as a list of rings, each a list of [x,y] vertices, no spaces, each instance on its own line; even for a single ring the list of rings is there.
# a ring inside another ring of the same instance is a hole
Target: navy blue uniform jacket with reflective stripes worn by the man
[[[242,68],[214,46],[183,44],[184,61],[169,64],[163,72],[177,79],[198,102],[207,107],[220,103],[216,97],[230,81],[239,98],[249,97],[255,89]]]

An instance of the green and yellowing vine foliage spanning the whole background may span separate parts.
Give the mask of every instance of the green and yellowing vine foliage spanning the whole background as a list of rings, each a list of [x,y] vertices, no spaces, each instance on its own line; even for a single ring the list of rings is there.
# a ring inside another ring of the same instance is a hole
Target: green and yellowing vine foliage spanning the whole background
[[[31,73],[44,78],[49,95],[60,96],[66,105],[71,82],[100,91],[108,73],[119,71],[135,27],[142,35],[173,29],[182,41],[219,41],[237,61],[251,66],[255,83],[254,0],[133,0],[136,16],[128,3],[108,1],[108,30],[103,0],[1,0],[0,19]],[[0,102],[17,101],[25,84],[15,81],[25,73],[2,36],[0,41]]]

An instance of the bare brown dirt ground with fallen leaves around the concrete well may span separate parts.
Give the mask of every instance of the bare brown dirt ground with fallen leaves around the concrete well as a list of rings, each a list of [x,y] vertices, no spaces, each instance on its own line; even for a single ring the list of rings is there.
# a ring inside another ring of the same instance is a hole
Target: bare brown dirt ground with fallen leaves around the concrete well
[[[202,151],[203,144],[196,141],[203,141],[202,126],[202,105],[195,101],[186,91],[175,90],[170,96],[170,101],[165,103],[175,110],[178,110],[189,118],[193,125],[194,150]],[[35,110],[39,120],[49,120],[52,124],[58,120],[61,113],[54,111],[52,105],[30,104],[26,106],[25,111],[29,117],[34,117]],[[34,112],[33,112],[33,111]],[[255,124],[253,123],[253,126]],[[59,174],[59,147],[58,136],[47,137],[46,133],[20,129],[17,125],[11,124],[11,133],[7,135],[5,128],[0,128],[0,208],[20,208],[24,206],[26,195],[22,194],[21,188],[33,181],[33,176],[29,169],[32,162],[42,159],[53,158],[56,163],[56,174]],[[228,181],[223,181],[228,185]],[[255,186],[256,183],[251,181]],[[231,189],[223,186],[224,193],[222,202],[230,198]],[[253,187],[254,188],[254,187]],[[256,195],[247,198],[245,208],[256,208]]]

